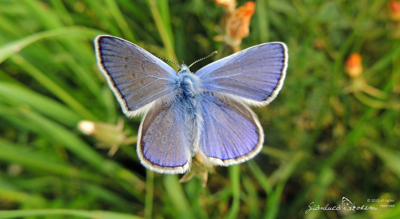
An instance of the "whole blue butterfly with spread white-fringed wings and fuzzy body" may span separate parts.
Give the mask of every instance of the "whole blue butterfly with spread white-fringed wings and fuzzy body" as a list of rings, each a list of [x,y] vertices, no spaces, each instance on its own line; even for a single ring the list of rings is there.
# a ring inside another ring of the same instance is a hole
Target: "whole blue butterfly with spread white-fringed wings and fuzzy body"
[[[114,36],[94,39],[97,64],[128,117],[144,115],[137,153],[148,169],[185,173],[192,157],[206,165],[242,163],[260,152],[264,132],[249,106],[269,104],[288,66],[282,42],[253,46],[190,72]]]

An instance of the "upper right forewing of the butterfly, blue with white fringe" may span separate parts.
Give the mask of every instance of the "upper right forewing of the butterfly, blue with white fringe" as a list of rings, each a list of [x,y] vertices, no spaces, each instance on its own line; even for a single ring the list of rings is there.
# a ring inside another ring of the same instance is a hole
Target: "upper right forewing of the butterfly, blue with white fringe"
[[[246,104],[264,106],[282,88],[287,51],[282,42],[260,44],[212,62],[196,75],[204,90],[231,94]]]

